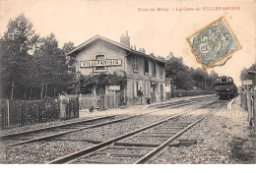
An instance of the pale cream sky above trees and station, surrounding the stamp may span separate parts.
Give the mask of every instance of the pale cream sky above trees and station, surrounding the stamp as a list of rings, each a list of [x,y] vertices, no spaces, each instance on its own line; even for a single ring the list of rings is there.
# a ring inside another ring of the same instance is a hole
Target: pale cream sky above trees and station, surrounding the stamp
[[[203,11],[203,7],[236,10]],[[242,49],[224,66],[209,71],[232,77],[239,86],[240,71],[256,63],[255,9],[255,0],[0,0],[0,35],[7,30],[8,21],[22,13],[40,36],[53,32],[60,46],[68,41],[77,46],[96,34],[119,42],[128,30],[131,45],[137,49],[145,48],[147,54],[162,57],[172,52],[183,57],[185,65],[201,68],[186,37],[224,17]]]

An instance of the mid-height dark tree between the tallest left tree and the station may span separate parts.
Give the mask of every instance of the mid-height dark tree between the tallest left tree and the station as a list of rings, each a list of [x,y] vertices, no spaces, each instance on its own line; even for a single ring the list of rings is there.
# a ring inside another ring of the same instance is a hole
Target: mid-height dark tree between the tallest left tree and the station
[[[41,81],[41,99],[43,92],[44,96],[56,96],[56,92],[67,87],[65,84],[70,79],[70,74],[68,74],[68,62],[64,50],[58,48],[58,41],[53,33],[41,39],[41,44],[34,51],[34,56],[38,64],[37,74]],[[52,88],[50,93],[48,93],[48,87]]]

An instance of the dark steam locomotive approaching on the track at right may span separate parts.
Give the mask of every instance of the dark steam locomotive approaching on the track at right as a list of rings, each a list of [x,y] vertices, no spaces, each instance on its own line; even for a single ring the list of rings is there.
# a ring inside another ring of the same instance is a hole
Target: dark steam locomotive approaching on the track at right
[[[215,90],[220,99],[230,99],[237,95],[237,87],[230,77],[219,77],[216,79]]]

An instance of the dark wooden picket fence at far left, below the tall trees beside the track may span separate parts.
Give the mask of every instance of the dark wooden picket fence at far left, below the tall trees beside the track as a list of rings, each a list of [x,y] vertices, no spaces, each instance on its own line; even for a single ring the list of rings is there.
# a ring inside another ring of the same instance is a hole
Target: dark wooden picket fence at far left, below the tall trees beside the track
[[[65,119],[79,117],[78,98],[68,98]],[[0,128],[15,128],[59,119],[60,102],[56,99],[0,99]]]

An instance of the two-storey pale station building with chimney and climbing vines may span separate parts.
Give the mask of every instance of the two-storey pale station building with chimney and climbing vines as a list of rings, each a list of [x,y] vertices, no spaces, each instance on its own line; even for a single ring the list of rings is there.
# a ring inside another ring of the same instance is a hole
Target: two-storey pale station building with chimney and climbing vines
[[[122,90],[105,87],[95,88],[94,95],[122,94],[128,104],[144,104],[165,100],[164,61],[147,55],[145,49],[136,50],[130,45],[128,31],[120,36],[120,42],[96,35],[68,52],[77,60],[76,71],[82,75],[125,72],[127,85]],[[139,92],[143,95],[139,97]]]

